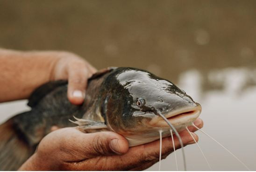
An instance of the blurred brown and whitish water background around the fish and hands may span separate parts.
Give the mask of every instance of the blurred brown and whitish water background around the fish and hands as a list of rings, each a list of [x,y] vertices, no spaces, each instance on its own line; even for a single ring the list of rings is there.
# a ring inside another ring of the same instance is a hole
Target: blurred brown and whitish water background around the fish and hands
[[[136,67],[171,80],[202,105],[204,130],[251,170],[256,170],[255,41],[255,0],[0,0],[0,47],[66,50],[97,69]],[[1,103],[0,122],[28,110],[26,103]],[[197,134],[213,170],[246,170]],[[209,170],[196,145],[185,153],[188,170]],[[162,161],[162,170],[176,170],[174,155]]]

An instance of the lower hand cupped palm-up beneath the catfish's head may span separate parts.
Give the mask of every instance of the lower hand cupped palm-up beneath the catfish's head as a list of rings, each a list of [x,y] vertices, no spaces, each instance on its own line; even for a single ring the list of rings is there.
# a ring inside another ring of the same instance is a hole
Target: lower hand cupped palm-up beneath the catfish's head
[[[194,124],[201,128],[203,121]],[[194,132],[197,129],[188,127]],[[179,133],[184,145],[193,144],[188,131]],[[192,133],[198,140],[198,136]],[[180,148],[174,136],[175,148]],[[83,133],[76,128],[63,128],[51,132],[40,142],[36,153],[21,166],[20,170],[144,170],[155,164],[159,158],[159,140],[135,147],[128,147],[121,135],[107,131]],[[173,151],[172,140],[162,141],[162,158]]]

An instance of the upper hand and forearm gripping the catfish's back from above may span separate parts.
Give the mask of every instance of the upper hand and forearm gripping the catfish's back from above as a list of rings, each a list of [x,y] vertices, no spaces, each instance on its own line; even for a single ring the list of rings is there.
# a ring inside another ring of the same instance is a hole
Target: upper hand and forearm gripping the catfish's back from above
[[[0,49],[0,102],[27,99],[43,83],[68,80],[68,98],[81,104],[87,79],[96,72],[78,55],[63,51],[14,51]]]

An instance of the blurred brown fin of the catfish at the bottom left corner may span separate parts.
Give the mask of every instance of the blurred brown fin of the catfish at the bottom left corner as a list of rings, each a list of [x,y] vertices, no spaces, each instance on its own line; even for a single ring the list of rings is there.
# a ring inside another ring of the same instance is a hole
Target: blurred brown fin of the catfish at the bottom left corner
[[[16,171],[34,153],[13,119],[0,125],[0,171]]]

